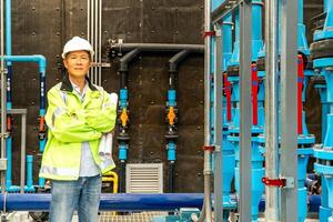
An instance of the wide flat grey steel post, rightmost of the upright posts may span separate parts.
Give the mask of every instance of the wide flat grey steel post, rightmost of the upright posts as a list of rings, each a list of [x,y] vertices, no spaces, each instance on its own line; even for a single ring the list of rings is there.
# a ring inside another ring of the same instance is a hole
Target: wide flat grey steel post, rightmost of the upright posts
[[[297,221],[297,1],[282,0],[281,13],[281,221]],[[293,183],[293,185],[292,185]],[[290,213],[292,212],[292,213]]]

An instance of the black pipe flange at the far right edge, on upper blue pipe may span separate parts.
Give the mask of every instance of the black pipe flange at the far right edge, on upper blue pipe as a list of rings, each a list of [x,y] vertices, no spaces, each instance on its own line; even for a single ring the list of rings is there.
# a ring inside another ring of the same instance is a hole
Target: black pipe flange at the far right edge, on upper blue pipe
[[[333,39],[324,39],[310,44],[312,60],[333,57]]]

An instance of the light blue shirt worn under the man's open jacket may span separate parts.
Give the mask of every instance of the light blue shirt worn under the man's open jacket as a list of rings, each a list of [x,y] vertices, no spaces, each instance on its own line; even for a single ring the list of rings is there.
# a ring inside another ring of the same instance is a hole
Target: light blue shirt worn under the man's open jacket
[[[72,81],[71,81],[71,83],[74,89],[74,92],[80,98],[81,102],[83,102],[84,95],[88,90],[88,83],[85,82],[82,93],[80,92],[80,88],[78,85],[75,85]],[[94,176],[100,173],[101,173],[101,170],[93,160],[89,142],[83,142],[82,150],[81,150],[81,162],[80,162],[79,176]]]

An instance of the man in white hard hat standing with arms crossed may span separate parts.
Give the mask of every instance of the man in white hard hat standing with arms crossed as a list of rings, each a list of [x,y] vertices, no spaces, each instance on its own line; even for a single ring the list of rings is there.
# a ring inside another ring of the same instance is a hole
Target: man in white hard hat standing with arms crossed
[[[51,222],[71,222],[74,210],[80,222],[97,222],[101,173],[114,168],[103,163],[99,144],[114,128],[117,102],[87,77],[93,54],[87,40],[68,41],[62,52],[68,73],[48,92],[49,132],[40,176],[51,179]]]

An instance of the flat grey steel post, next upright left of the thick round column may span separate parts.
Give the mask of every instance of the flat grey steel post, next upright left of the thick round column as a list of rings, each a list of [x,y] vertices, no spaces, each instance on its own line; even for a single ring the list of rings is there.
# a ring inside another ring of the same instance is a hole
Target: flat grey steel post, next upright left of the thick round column
[[[251,60],[252,3],[240,3],[240,221],[251,221]]]

